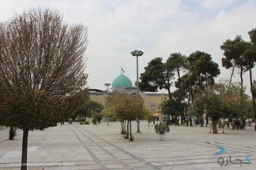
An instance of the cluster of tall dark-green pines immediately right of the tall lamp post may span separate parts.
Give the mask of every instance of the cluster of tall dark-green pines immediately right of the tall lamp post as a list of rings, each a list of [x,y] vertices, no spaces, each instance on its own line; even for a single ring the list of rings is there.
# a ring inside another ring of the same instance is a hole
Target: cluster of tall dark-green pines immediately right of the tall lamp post
[[[181,76],[181,72],[185,72]],[[177,74],[177,81],[173,83]],[[170,54],[166,62],[162,62],[162,58],[152,59],[148,66],[145,67],[145,72],[141,74],[139,87],[142,91],[156,92],[158,89],[166,89],[169,93],[169,100],[163,102],[162,113],[171,115],[172,120],[177,122],[177,117],[181,117],[181,123],[184,117],[184,107],[194,105],[195,95],[199,99],[199,112],[202,110],[202,90],[205,85],[209,86],[214,82],[214,77],[220,74],[218,64],[212,61],[210,54],[196,51],[189,57],[180,53]],[[170,91],[172,85],[177,88],[176,91]],[[184,102],[185,98],[188,102]],[[202,114],[201,114],[202,115]],[[168,122],[171,122],[170,116]],[[200,118],[201,125],[203,125]],[[208,117],[207,117],[208,124]]]

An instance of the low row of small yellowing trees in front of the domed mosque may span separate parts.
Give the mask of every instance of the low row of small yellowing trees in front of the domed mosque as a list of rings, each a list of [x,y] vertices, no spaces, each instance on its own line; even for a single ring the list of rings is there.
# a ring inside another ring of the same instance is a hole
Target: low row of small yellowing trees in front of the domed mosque
[[[143,103],[143,99],[137,95],[114,91],[110,94],[108,105],[105,108],[99,102],[89,99],[73,117],[79,117],[80,121],[81,117],[93,117],[94,125],[96,125],[96,120],[100,121],[103,116],[109,117],[111,121],[119,121],[121,124],[120,133],[132,141],[134,137],[131,134],[131,121],[137,118],[146,120],[149,128],[149,123],[154,120],[153,114],[148,109],[144,109]]]

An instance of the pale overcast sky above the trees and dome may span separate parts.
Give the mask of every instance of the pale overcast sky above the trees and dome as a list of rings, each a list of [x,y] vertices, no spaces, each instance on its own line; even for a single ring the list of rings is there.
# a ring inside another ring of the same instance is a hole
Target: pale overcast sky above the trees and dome
[[[111,83],[121,73],[121,65],[125,75],[133,83],[136,81],[136,58],[130,54],[135,49],[144,52],[139,58],[139,74],[155,57],[166,61],[171,53],[188,56],[199,50],[211,54],[218,63],[218,78],[228,78],[231,71],[221,66],[220,45],[236,35],[249,41],[247,32],[256,28],[256,0],[0,0],[0,20],[39,6],[58,9],[68,23],[88,27],[90,42],[84,54],[88,58],[88,86],[102,90],[105,83]],[[234,81],[239,80],[236,71]],[[249,83],[247,72],[247,94]]]

